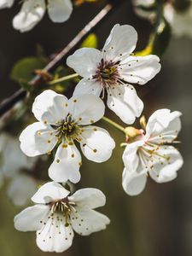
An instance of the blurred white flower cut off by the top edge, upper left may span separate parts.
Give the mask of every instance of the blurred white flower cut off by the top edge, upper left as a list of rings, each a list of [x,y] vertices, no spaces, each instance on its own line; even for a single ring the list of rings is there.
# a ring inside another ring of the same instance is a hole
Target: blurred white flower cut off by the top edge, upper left
[[[0,9],[11,7],[14,0],[0,0]],[[31,30],[44,17],[48,9],[50,20],[64,22],[68,20],[73,11],[71,0],[24,0],[18,15],[13,20],[13,26],[20,32]]]

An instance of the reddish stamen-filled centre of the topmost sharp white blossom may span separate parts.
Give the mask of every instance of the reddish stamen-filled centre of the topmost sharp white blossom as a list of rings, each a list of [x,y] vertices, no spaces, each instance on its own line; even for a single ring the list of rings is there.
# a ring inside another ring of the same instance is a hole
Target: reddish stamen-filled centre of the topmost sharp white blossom
[[[96,75],[93,79],[99,81],[103,87],[115,84],[119,80],[118,62],[102,61],[96,69]]]

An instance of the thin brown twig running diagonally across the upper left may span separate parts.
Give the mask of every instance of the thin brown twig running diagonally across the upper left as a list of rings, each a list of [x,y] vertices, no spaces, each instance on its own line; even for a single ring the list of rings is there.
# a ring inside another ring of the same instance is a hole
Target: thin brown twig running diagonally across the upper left
[[[94,18],[93,20],[90,20],[90,22],[84,26],[84,28],[77,34],[73,40],[67,44],[67,46],[61,50],[61,52],[55,56],[55,58],[49,62],[49,64],[44,67],[45,72],[51,72],[56,67],[60,65],[62,61],[67,59],[67,56],[71,54],[72,50],[77,48],[77,46],[82,42],[82,40],[87,36],[89,32],[92,30],[95,30],[98,25],[102,23],[104,18],[106,18],[108,15],[111,14],[112,10],[115,9],[120,3],[123,3],[125,0],[119,0],[119,1],[110,1]],[[32,79],[32,81],[29,82],[32,86],[37,86],[42,82],[41,76],[37,75]],[[9,98],[5,99],[0,104],[0,118],[3,117],[3,115],[6,115],[6,119],[8,118],[9,114],[11,115],[12,111],[11,108],[14,108],[15,104],[17,102],[20,102],[21,100],[25,99],[27,95],[27,91],[24,89],[20,89],[15,92],[12,96],[9,96]],[[3,117],[4,118],[4,117]]]

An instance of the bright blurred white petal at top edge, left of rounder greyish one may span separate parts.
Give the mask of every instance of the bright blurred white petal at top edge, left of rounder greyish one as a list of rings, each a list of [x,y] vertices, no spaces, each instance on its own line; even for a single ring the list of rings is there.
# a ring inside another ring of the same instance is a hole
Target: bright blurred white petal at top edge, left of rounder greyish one
[[[25,0],[20,12],[13,20],[13,26],[20,32],[31,30],[42,20],[45,12],[44,0]]]

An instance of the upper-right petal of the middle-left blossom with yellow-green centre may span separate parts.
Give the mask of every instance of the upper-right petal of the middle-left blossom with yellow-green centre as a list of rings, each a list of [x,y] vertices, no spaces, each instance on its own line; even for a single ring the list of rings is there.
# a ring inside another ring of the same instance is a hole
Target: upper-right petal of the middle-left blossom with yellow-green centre
[[[105,113],[105,105],[95,95],[81,95],[69,100],[69,112],[79,125],[90,125],[102,119]]]

